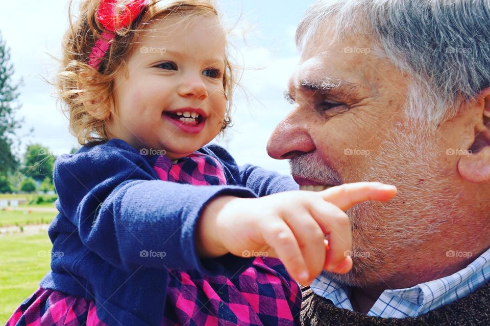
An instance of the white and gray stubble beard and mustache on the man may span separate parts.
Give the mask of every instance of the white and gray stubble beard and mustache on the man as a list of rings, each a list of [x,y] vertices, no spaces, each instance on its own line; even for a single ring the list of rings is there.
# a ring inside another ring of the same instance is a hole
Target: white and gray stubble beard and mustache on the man
[[[437,135],[423,125],[393,126],[381,136],[380,150],[366,156],[369,168],[356,181],[378,181],[398,187],[386,203],[363,202],[347,211],[353,234],[353,268],[345,275],[328,273],[350,286],[384,283],[416,259],[422,244],[437,234],[457,211],[459,194],[437,167]],[[316,180],[339,179],[316,153],[291,159],[291,172]],[[344,180],[355,180],[347,169]],[[323,179],[322,179],[323,178]]]

